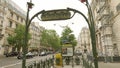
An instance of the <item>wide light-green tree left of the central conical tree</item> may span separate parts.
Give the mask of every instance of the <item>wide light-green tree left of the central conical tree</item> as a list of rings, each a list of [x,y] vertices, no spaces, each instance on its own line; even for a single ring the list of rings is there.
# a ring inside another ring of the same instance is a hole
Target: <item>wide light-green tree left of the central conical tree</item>
[[[55,30],[43,30],[40,38],[42,46],[57,49],[60,47],[60,39]]]

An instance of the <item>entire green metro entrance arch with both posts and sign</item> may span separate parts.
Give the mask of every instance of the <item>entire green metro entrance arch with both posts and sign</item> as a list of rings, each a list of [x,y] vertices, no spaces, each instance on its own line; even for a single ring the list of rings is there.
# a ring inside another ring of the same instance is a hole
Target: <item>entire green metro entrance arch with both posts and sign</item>
[[[50,11],[39,11],[38,13],[36,13],[35,15],[33,15],[30,19],[29,19],[29,11],[31,9],[31,7],[33,6],[33,4],[30,2],[27,2],[27,16],[26,16],[26,22],[25,22],[25,42],[24,42],[24,46],[23,46],[23,60],[22,60],[22,68],[26,68],[26,54],[27,54],[27,47],[28,47],[28,32],[29,32],[29,26],[32,22],[32,20],[37,17],[38,19],[41,18],[42,21],[52,21],[52,20],[67,20],[67,19],[71,19],[76,13],[79,13],[80,15],[82,15],[84,17],[84,19],[86,20],[89,30],[90,30],[90,36],[91,36],[91,43],[92,43],[92,52],[93,52],[93,57],[94,57],[94,65],[95,68],[98,68],[98,53],[97,53],[97,49],[96,49],[96,35],[95,35],[95,22],[93,19],[93,15],[92,15],[92,10],[91,10],[91,6],[89,5],[87,0],[81,0],[81,2],[86,2],[86,7],[88,9],[88,15],[89,15],[89,19],[80,11],[76,10],[76,9],[72,9],[72,8],[67,8],[67,9],[62,9],[62,10],[50,10]],[[73,14],[71,15],[70,12],[73,12]],[[40,15],[40,16],[39,16]],[[71,50],[71,49],[69,49]]]

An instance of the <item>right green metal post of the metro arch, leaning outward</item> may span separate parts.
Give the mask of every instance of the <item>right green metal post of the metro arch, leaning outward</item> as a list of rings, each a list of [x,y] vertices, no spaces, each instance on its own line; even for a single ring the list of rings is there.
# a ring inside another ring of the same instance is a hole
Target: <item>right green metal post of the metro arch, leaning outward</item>
[[[82,3],[85,3],[87,9],[88,9],[88,15],[89,15],[89,20],[88,20],[88,26],[90,30],[90,35],[91,35],[91,43],[92,43],[92,51],[93,51],[93,58],[94,58],[94,65],[95,68],[98,68],[98,54],[96,50],[96,35],[95,35],[95,23],[93,19],[93,14],[91,10],[91,6],[88,3],[88,0],[80,0]]]

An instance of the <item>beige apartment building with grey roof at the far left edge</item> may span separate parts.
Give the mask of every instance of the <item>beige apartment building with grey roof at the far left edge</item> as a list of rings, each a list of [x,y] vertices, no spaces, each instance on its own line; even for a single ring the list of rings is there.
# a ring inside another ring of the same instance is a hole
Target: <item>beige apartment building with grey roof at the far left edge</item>
[[[14,29],[19,24],[25,24],[26,12],[11,0],[0,0],[0,54],[11,50],[7,37],[14,34]]]

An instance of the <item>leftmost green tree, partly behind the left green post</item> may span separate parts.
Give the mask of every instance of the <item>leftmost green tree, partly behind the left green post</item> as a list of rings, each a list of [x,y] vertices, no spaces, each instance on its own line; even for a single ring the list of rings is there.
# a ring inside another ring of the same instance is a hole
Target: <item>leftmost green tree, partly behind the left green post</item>
[[[24,34],[25,34],[25,26],[24,25],[18,25],[18,27],[14,30],[14,34],[10,35],[7,38],[8,43],[17,48],[17,51],[20,52],[20,49],[22,46],[24,46]],[[31,38],[31,35],[28,34],[28,38]]]

